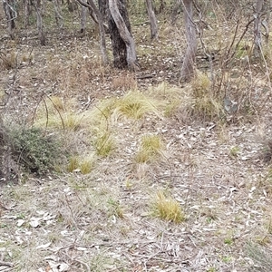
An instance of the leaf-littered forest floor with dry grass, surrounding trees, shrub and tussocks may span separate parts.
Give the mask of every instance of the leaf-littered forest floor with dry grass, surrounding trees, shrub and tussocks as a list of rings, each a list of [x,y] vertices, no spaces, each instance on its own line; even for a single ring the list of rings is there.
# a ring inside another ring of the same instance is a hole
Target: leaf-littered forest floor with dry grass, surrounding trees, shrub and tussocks
[[[271,139],[271,89],[264,65],[234,62],[228,69],[229,95],[236,93],[238,102],[250,96],[255,112],[241,106],[230,115],[219,95],[224,117],[207,117],[205,106],[201,115],[191,93],[206,77],[179,83],[182,26],[161,21],[160,39],[151,42],[145,21],[132,21],[136,73],[102,66],[98,38],[79,34],[79,24],[48,27],[45,46],[34,26],[17,29],[11,41],[0,25],[0,52],[11,63],[2,63],[0,78],[5,124],[38,126],[61,138],[65,151],[92,158],[86,174],[67,171],[66,162],[59,172],[3,182],[0,271],[270,271],[272,174],[264,150]],[[212,38],[207,43],[217,44]],[[198,69],[209,73],[202,56]],[[151,100],[144,114],[133,118],[113,109],[97,119],[104,103],[128,93]],[[98,155],[102,125],[114,148]],[[160,139],[154,160],[137,160],[143,135]],[[180,204],[181,222],[155,216],[161,192]]]

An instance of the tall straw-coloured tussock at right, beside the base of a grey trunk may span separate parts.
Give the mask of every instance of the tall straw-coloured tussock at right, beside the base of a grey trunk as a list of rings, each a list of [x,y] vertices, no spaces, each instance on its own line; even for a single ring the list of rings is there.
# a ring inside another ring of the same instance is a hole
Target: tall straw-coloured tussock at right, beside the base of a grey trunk
[[[209,77],[198,72],[191,83],[192,95],[194,98],[192,113],[200,118],[213,119],[223,113],[222,103],[212,92],[212,85]]]

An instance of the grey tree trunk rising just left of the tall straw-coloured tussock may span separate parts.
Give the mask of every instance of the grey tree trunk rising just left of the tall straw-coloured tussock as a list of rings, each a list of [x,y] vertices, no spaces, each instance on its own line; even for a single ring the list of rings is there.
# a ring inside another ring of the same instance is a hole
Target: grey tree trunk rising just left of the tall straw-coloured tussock
[[[197,33],[193,22],[193,0],[183,0],[187,50],[181,66],[181,81],[189,81],[194,75],[197,53]]]

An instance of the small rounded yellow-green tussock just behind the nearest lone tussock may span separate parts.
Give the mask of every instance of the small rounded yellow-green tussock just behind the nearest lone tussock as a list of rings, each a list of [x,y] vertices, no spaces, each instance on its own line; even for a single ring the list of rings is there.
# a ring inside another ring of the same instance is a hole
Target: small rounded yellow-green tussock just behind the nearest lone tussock
[[[135,156],[137,163],[148,163],[157,160],[161,155],[162,142],[158,135],[143,135],[140,149]]]

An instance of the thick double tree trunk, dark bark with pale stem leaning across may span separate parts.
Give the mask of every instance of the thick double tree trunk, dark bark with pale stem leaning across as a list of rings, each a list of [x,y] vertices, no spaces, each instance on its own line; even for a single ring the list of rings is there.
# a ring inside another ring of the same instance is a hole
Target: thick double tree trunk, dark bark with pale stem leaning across
[[[136,47],[125,0],[109,0],[109,31],[112,39],[113,64],[117,68],[138,68]]]

